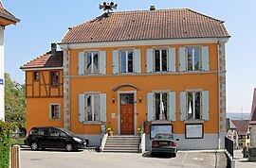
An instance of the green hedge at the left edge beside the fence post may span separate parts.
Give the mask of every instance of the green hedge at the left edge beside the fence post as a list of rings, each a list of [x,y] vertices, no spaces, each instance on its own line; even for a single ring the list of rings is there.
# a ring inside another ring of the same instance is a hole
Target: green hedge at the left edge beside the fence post
[[[9,168],[9,148],[11,147],[11,125],[0,121],[0,167]]]

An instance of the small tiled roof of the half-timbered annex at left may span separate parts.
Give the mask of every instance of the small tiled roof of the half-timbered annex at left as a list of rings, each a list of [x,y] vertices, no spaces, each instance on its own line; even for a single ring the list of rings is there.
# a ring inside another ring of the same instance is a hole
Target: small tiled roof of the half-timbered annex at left
[[[52,56],[50,52],[38,57],[37,59],[33,59],[23,66],[21,69],[31,69],[31,68],[57,68],[63,67],[63,51],[56,51],[56,54]]]

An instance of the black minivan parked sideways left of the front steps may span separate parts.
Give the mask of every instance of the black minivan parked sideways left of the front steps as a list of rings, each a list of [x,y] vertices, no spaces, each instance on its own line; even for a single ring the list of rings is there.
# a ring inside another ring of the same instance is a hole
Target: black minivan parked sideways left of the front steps
[[[89,140],[76,136],[62,127],[32,127],[24,141],[32,150],[39,148],[64,148],[66,151],[81,149],[89,144]]]

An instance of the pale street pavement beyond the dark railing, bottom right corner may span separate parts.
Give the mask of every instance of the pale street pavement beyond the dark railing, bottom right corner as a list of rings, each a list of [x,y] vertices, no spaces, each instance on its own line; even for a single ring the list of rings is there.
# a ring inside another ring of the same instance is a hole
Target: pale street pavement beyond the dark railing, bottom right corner
[[[236,168],[256,168],[256,162],[249,162],[248,159],[243,158],[242,149],[234,150],[234,160]]]

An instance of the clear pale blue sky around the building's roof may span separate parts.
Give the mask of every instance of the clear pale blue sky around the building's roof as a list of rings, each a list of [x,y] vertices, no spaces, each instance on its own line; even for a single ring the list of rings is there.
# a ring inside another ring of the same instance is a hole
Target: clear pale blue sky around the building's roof
[[[31,59],[60,42],[67,27],[91,20],[103,12],[103,0],[2,0],[21,22],[5,30],[5,71],[19,83],[19,69]],[[108,1],[107,1],[108,2]],[[231,35],[226,47],[228,111],[250,111],[256,87],[256,1],[255,0],[115,0],[118,11],[158,8],[192,8],[226,21]]]

